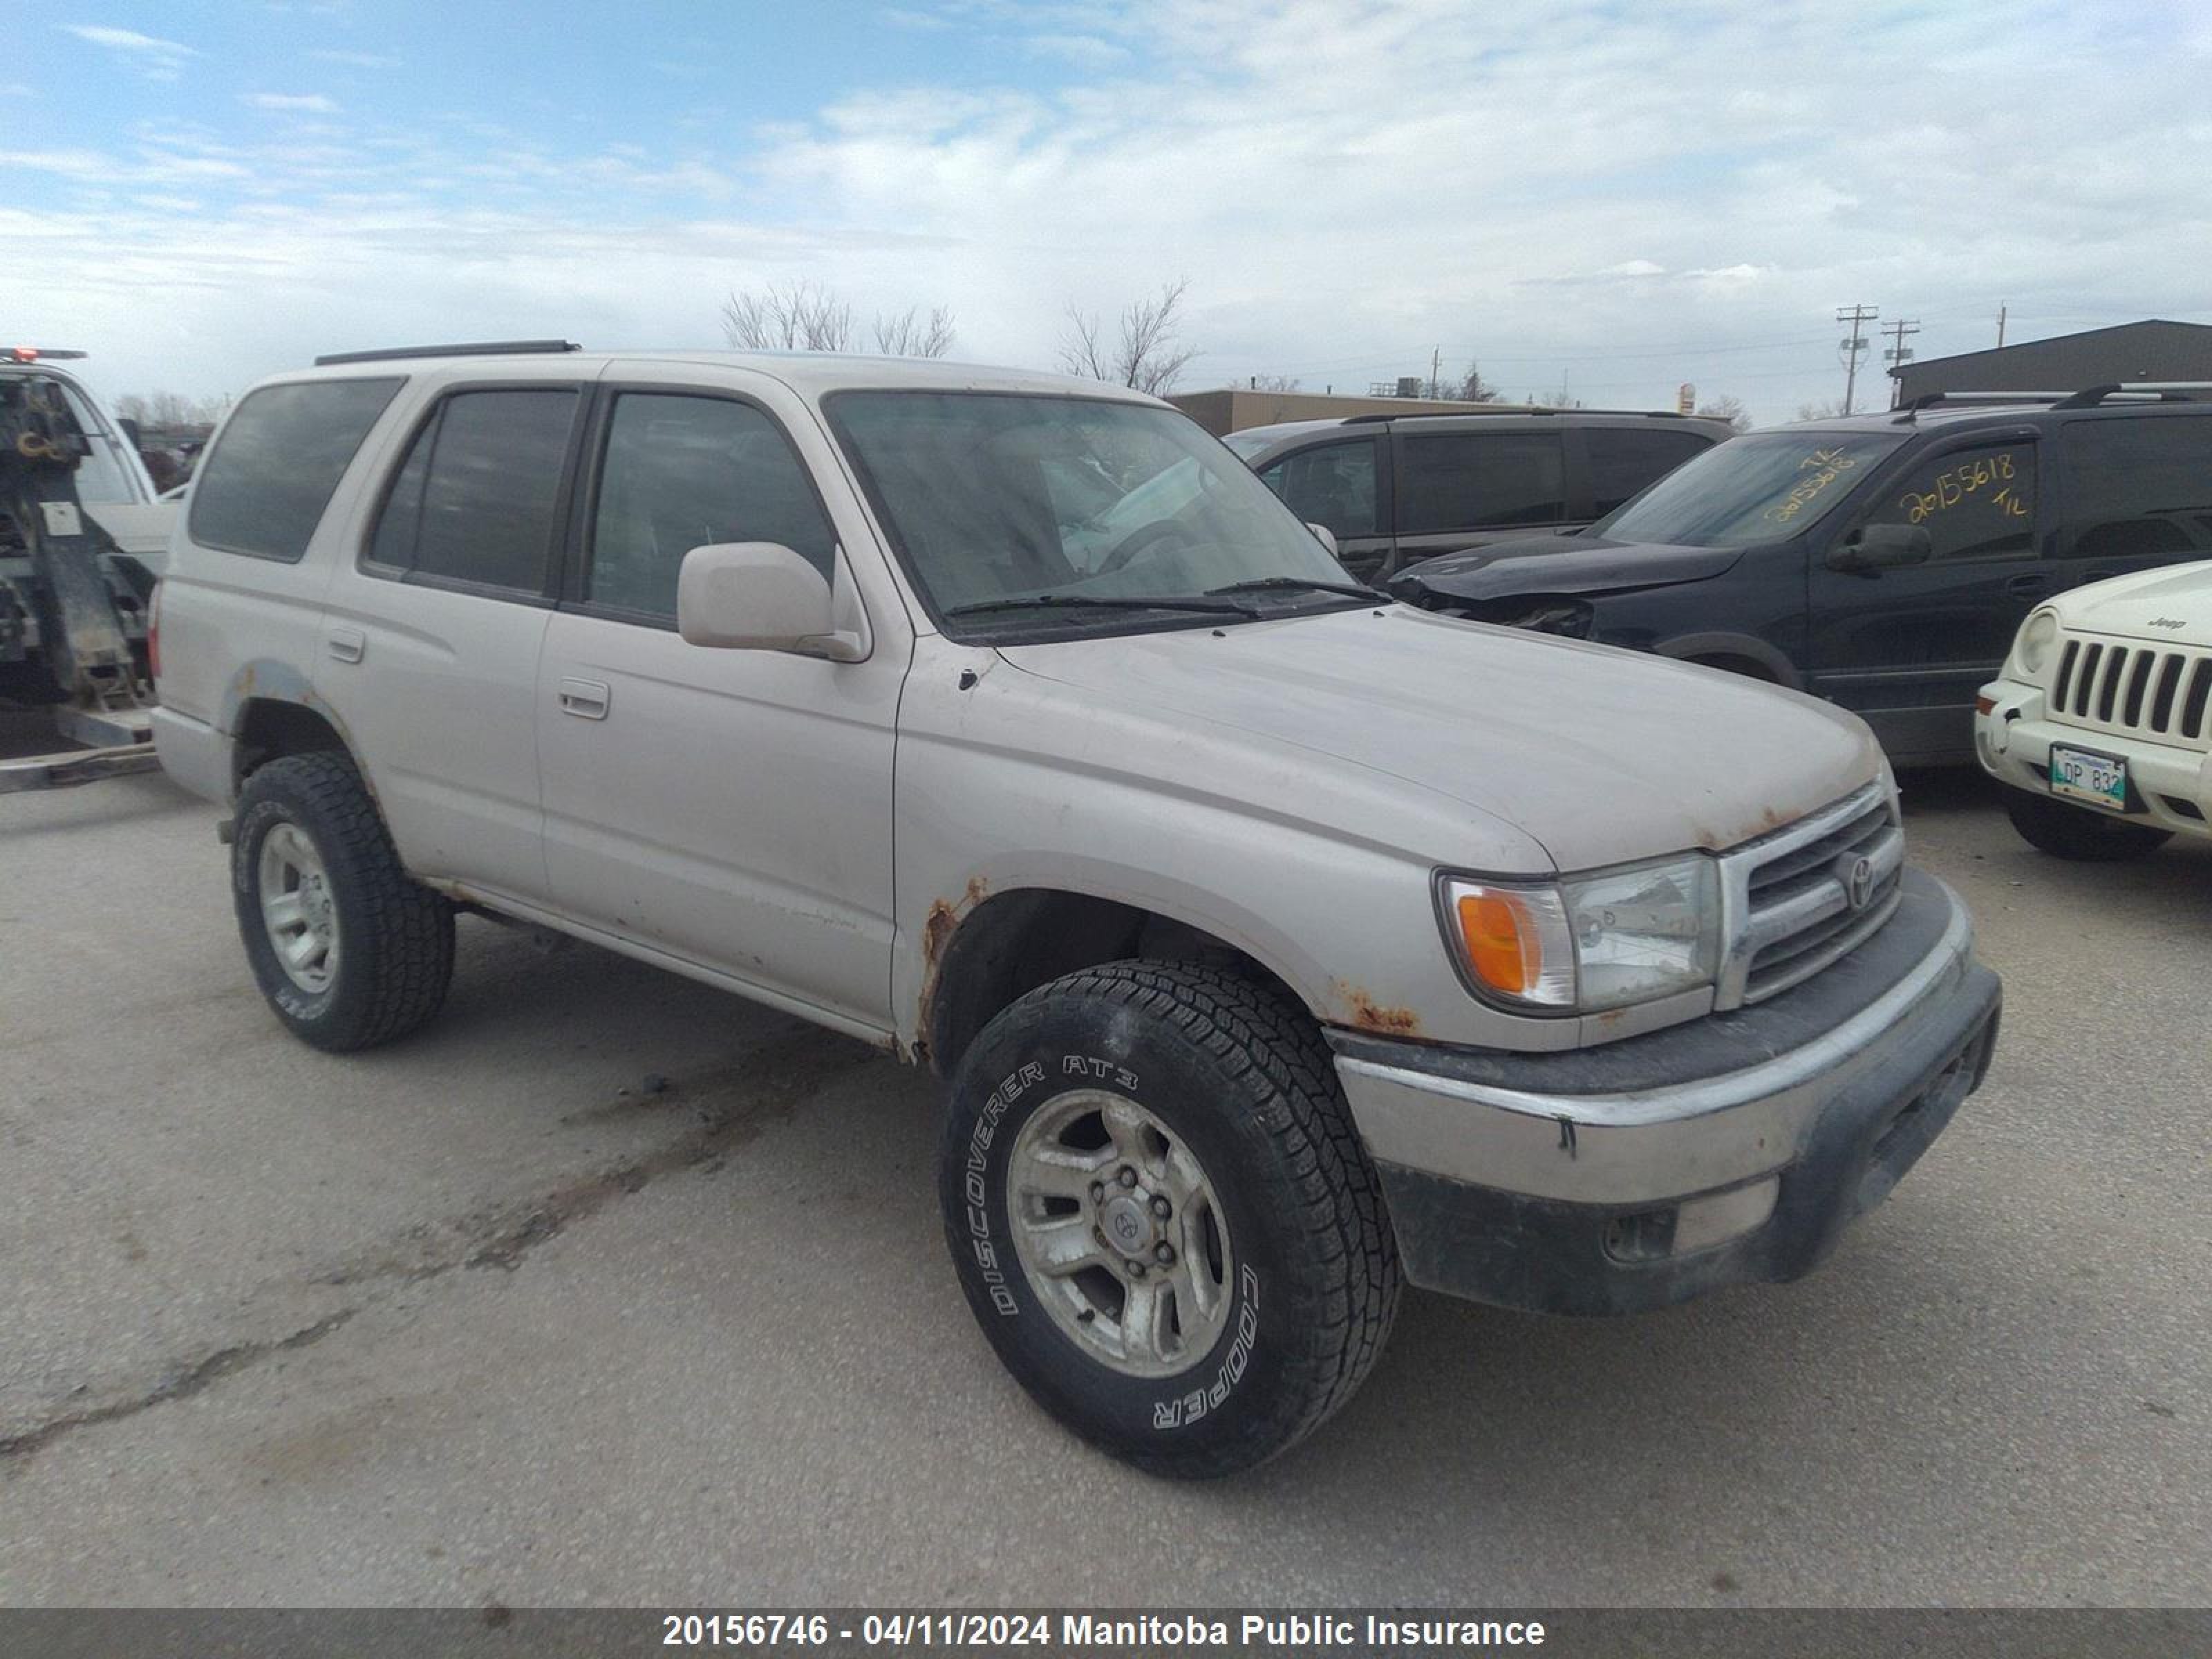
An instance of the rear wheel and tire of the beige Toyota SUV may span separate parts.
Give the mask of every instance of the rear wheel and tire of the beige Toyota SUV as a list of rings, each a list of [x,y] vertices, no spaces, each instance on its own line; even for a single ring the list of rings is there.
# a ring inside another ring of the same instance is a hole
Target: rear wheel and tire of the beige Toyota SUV
[[[261,995],[316,1048],[389,1042],[445,1002],[453,907],[400,867],[345,757],[288,754],[246,781],[230,885]]]

